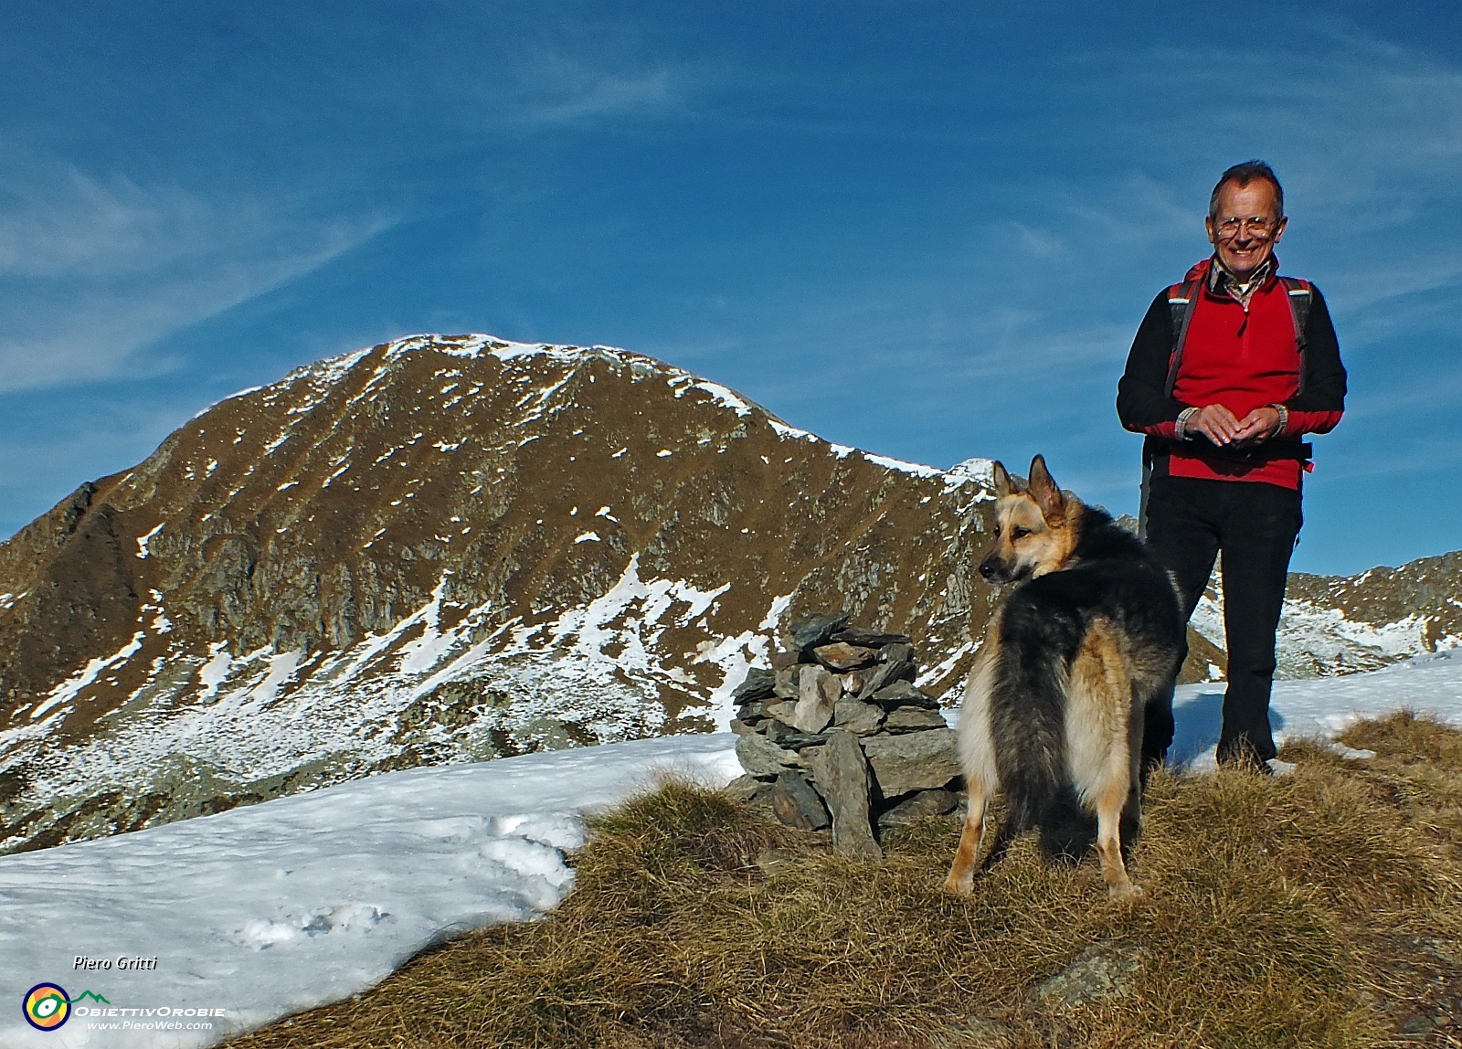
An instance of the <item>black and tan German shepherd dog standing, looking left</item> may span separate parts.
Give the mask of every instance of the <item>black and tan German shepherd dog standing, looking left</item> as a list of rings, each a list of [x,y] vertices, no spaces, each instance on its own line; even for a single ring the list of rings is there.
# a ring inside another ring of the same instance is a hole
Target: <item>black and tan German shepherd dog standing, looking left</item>
[[[1063,492],[1041,456],[1025,488],[996,463],[994,488],[996,548],[980,574],[1016,587],[990,619],[959,716],[969,809],[946,888],[974,890],[1001,789],[1001,839],[1038,828],[1053,858],[1080,858],[1095,814],[1108,891],[1133,896],[1121,846],[1140,820],[1143,710],[1177,678],[1177,589],[1111,514]]]

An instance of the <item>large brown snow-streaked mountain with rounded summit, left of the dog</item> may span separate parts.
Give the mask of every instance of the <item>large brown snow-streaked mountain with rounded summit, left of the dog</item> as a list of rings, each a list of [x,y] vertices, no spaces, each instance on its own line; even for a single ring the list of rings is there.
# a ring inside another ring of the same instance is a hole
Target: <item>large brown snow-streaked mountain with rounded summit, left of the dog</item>
[[[981,463],[833,446],[604,346],[300,368],[0,545],[6,836],[724,725],[798,608],[911,634],[943,691],[988,608]]]

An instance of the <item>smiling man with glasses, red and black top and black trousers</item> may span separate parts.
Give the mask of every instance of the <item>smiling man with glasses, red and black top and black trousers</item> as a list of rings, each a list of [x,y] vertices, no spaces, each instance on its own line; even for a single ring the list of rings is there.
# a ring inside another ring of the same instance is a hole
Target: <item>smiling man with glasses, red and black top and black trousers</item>
[[[1117,386],[1143,444],[1143,527],[1193,615],[1222,554],[1228,690],[1221,763],[1269,773],[1269,690],[1310,446],[1345,411],[1325,298],[1279,276],[1284,190],[1262,161],[1222,174],[1208,206],[1213,254],[1159,294]],[[1186,650],[1184,650],[1186,656]],[[1173,742],[1171,697],[1146,712],[1145,766]]]

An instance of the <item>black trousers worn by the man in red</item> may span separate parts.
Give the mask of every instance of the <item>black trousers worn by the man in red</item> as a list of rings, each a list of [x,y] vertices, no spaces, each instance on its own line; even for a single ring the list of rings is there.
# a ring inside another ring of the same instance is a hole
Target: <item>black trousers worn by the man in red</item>
[[[1228,691],[1218,742],[1221,761],[1249,749],[1260,760],[1276,752],[1269,729],[1275,630],[1303,520],[1300,492],[1279,485],[1158,476],[1148,489],[1148,546],[1177,579],[1184,619],[1203,596],[1213,558],[1224,555]],[[1142,749],[1156,757],[1173,742],[1171,698],[1167,710],[1149,710],[1148,722]]]

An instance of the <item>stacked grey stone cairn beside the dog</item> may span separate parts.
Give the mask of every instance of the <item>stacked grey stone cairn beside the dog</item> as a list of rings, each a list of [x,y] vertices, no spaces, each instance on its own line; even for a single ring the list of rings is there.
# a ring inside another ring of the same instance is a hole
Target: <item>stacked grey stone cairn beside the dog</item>
[[[909,638],[810,615],[789,641],[732,693],[746,770],[732,789],[788,825],[832,824],[833,849],[849,856],[883,856],[880,827],[953,811],[955,732],[914,687]]]

